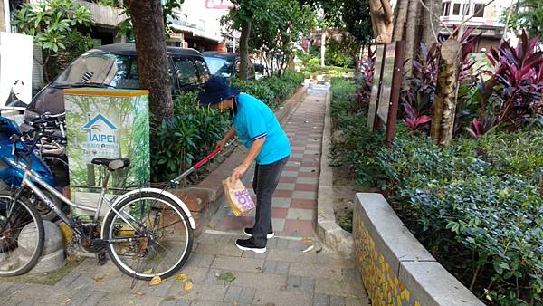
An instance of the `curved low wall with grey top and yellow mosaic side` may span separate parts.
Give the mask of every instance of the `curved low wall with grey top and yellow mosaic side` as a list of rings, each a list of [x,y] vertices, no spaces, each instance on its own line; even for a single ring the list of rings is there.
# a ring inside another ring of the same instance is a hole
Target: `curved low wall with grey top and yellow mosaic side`
[[[416,240],[382,195],[355,196],[353,237],[372,304],[484,305]]]

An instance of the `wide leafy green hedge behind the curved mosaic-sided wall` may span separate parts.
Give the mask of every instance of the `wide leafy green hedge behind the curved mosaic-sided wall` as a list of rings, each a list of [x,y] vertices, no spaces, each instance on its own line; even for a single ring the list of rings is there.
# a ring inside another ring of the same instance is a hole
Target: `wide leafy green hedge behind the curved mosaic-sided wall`
[[[387,190],[415,236],[449,271],[491,304],[542,304],[543,130],[494,130],[481,139],[433,145],[398,124],[394,148],[366,130],[349,95],[333,80],[332,114],[344,141],[334,162],[356,183]]]

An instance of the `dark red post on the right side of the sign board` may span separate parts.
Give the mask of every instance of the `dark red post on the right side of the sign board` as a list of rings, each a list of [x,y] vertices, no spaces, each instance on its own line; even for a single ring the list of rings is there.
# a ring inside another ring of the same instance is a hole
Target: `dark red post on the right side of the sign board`
[[[392,88],[386,118],[386,145],[391,146],[395,134],[395,123],[398,116],[398,102],[400,100],[400,88],[402,87],[402,67],[404,67],[405,41],[396,42],[394,57],[394,72],[392,74]]]

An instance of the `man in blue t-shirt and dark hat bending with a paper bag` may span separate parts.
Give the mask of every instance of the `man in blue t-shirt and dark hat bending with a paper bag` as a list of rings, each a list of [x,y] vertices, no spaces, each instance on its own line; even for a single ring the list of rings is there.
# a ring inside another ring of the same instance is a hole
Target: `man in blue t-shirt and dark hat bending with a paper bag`
[[[231,110],[233,127],[217,144],[223,148],[229,139],[237,136],[249,149],[240,166],[233,169],[233,178],[242,178],[247,168],[256,161],[252,188],[256,193],[256,215],[252,228],[245,228],[249,239],[238,239],[236,245],[243,251],[266,252],[266,243],[273,237],[271,226],[271,198],[279,184],[291,147],[275,114],[261,100],[230,87],[224,78],[212,77],[205,82],[198,95],[202,105],[217,110]]]

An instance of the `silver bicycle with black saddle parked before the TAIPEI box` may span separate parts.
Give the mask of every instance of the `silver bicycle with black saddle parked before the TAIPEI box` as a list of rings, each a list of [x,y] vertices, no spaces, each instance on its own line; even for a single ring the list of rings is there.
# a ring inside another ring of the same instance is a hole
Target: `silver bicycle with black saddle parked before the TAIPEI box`
[[[91,163],[106,167],[100,197],[96,207],[72,203],[53,186],[48,185],[32,170],[28,158],[33,144],[24,144],[12,136],[14,166],[24,170],[21,186],[0,192],[0,276],[27,273],[37,263],[43,250],[43,221],[36,208],[24,197],[29,189],[33,195],[54,211],[74,235],[71,246],[81,245],[96,254],[98,263],[106,262],[106,252],[123,273],[141,280],[155,276],[167,278],[186,263],[193,245],[195,221],[186,205],[166,189],[138,188],[109,198],[108,181],[111,172],[129,167],[127,158],[94,158]],[[178,183],[174,180],[172,183]],[[47,195],[43,189],[47,191]],[[90,222],[64,214],[49,197],[71,207],[94,213]],[[110,210],[100,224],[103,204]]]

